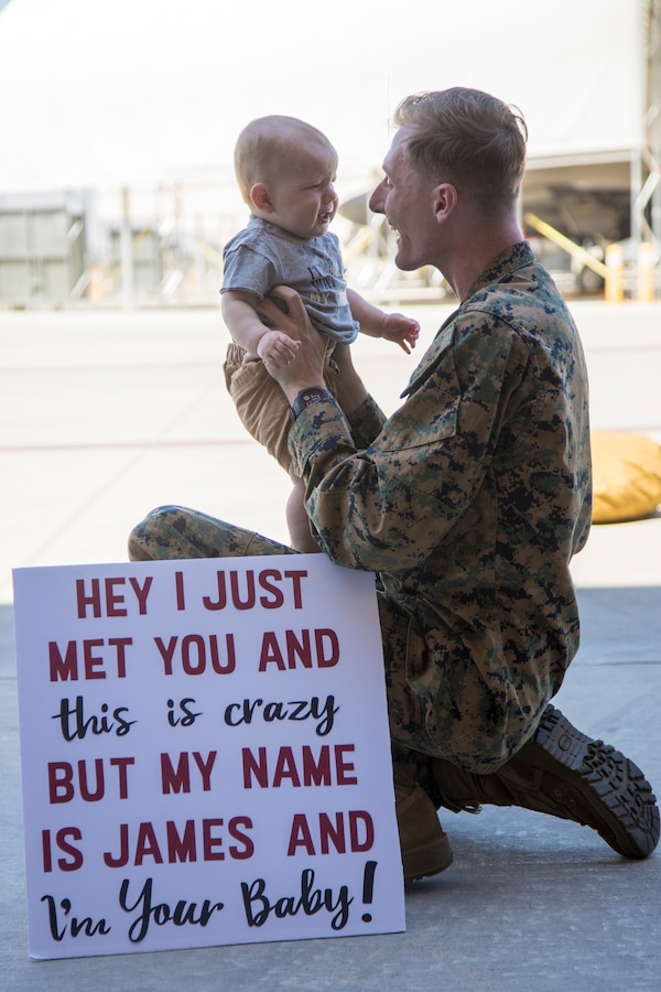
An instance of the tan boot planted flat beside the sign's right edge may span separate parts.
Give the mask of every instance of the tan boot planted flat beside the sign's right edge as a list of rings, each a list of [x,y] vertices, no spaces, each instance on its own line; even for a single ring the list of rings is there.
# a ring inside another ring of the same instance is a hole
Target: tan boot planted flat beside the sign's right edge
[[[452,864],[452,848],[438,822],[434,804],[397,763],[394,799],[404,882],[444,872]]]

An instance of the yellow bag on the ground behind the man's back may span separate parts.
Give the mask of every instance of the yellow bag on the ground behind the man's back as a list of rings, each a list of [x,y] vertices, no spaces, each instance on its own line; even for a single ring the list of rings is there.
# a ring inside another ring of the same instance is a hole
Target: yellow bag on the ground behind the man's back
[[[641,434],[594,431],[593,522],[640,520],[661,504],[661,444]]]

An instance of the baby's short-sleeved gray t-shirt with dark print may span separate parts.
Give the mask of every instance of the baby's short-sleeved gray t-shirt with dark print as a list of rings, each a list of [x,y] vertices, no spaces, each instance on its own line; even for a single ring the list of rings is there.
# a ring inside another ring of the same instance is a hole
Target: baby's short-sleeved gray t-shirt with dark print
[[[359,325],[347,302],[344,263],[336,235],[297,238],[274,224],[251,217],[223,252],[221,293],[243,290],[259,300],[275,285],[296,290],[317,331],[351,344]]]

